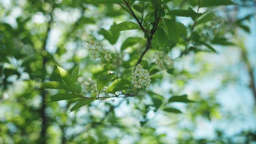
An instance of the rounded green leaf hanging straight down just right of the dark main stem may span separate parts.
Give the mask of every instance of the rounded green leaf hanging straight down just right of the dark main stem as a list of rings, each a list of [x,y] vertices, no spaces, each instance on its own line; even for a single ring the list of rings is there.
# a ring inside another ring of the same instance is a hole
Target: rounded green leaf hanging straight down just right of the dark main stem
[[[164,19],[164,21],[168,28],[168,37],[170,37],[175,42],[178,42],[180,38],[180,28],[177,22],[172,21],[171,19]]]

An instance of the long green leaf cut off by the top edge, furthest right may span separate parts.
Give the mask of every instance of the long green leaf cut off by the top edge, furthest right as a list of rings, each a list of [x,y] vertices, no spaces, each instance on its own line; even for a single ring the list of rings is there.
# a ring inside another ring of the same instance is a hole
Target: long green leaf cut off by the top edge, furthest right
[[[236,5],[231,0],[201,0],[200,7]]]

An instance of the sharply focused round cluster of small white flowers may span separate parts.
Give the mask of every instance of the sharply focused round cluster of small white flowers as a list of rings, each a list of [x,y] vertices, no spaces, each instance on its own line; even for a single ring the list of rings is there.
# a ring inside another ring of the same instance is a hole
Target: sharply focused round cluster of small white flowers
[[[135,67],[132,67],[131,72],[131,83],[134,85],[135,88],[141,88],[146,86],[147,88],[150,85],[150,76],[149,72],[142,68],[140,64]]]

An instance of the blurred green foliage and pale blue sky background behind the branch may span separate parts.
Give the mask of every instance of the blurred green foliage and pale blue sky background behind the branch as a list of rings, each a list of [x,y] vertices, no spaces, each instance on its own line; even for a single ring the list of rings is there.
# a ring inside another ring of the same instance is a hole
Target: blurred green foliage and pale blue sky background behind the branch
[[[200,9],[215,18],[196,27],[198,34],[192,38],[210,42],[217,53],[195,43],[173,67],[152,75],[148,94],[97,101],[68,113],[73,100],[42,104],[59,92],[39,89],[46,80],[61,81],[55,64],[70,72],[80,65],[80,79],[96,79],[105,70],[86,49],[85,41],[94,36],[116,53],[121,63],[117,65],[129,68],[144,49],[143,33],[107,31],[111,25],[134,21],[118,4],[1,0],[0,144],[256,143],[256,1],[234,2],[237,5]],[[197,4],[173,0],[167,6],[196,9]],[[176,21],[190,33],[191,18]],[[182,43],[170,41],[160,50],[175,59],[183,51]],[[144,67],[156,49],[145,55]],[[167,102],[183,94],[197,102]],[[156,110],[158,101],[151,98],[158,95],[164,98],[160,105],[178,108],[182,114]]]

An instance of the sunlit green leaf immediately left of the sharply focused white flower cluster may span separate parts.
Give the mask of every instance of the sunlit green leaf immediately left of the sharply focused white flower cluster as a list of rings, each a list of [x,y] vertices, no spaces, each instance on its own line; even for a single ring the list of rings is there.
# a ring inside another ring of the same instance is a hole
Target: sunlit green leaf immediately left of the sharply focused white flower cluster
[[[121,91],[125,89],[131,89],[131,82],[127,79],[116,79],[112,82],[109,87],[107,88],[107,92],[114,93],[116,91]]]

